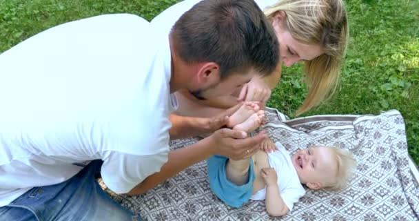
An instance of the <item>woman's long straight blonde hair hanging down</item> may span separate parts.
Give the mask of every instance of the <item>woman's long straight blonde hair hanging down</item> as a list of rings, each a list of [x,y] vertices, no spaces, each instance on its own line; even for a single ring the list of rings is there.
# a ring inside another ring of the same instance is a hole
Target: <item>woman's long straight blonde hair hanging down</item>
[[[280,0],[265,8],[268,19],[286,14],[286,28],[303,44],[320,44],[324,54],[305,61],[307,97],[296,114],[318,106],[336,90],[349,28],[343,0]]]

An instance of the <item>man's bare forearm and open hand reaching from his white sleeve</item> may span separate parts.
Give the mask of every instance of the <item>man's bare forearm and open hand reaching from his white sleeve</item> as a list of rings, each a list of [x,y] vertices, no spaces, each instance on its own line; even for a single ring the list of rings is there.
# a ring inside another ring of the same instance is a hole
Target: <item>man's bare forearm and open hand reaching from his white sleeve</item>
[[[145,191],[183,171],[187,166],[201,162],[214,154],[225,155],[234,160],[248,158],[258,151],[258,144],[267,135],[261,132],[254,137],[245,137],[247,137],[247,133],[243,131],[223,128],[191,146],[170,151],[168,160],[161,167],[161,171],[145,178],[143,182],[135,186],[127,194],[138,195],[145,193]]]

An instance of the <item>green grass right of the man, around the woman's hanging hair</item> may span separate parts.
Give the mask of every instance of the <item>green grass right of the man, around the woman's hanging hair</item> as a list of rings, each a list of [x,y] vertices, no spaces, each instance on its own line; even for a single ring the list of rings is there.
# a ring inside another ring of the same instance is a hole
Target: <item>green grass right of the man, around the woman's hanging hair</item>
[[[419,1],[347,0],[350,40],[336,94],[305,115],[378,114],[405,118],[409,153],[419,163]],[[268,106],[293,117],[306,90],[302,66],[283,68]]]

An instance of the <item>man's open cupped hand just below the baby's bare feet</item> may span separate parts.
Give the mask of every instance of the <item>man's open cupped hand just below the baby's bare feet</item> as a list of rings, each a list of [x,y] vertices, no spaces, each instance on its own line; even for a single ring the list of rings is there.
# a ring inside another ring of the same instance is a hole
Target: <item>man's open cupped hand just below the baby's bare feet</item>
[[[232,160],[242,160],[251,157],[259,149],[259,144],[267,134],[265,131],[254,137],[247,137],[244,131],[222,128],[206,139],[210,140],[214,155],[223,155]]]

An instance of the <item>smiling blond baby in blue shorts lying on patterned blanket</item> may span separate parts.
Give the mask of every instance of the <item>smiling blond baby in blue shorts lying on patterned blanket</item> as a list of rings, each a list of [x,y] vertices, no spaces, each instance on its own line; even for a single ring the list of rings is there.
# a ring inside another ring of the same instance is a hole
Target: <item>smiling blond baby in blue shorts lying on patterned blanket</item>
[[[257,104],[243,105],[228,126],[254,131],[265,120],[265,112],[258,109]],[[341,189],[355,165],[351,153],[340,148],[311,146],[290,157],[279,142],[266,140],[262,147],[269,153],[258,151],[245,160],[220,155],[207,160],[210,187],[229,206],[265,200],[269,215],[285,215],[305,194],[302,184],[315,190]]]

